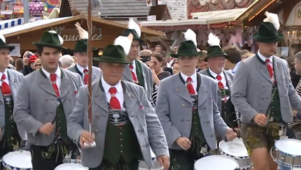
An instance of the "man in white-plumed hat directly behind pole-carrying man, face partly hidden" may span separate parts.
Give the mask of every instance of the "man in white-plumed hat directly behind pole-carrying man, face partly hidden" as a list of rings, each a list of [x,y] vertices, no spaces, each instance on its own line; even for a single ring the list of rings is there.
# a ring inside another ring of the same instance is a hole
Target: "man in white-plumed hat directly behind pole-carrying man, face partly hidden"
[[[122,80],[130,81],[143,87],[146,92],[147,99],[152,101],[154,85],[153,74],[152,70],[150,70],[146,64],[137,60],[139,45],[143,43],[143,40],[140,39],[140,27],[133,20],[129,21],[128,29],[123,31],[122,36],[127,37],[129,34],[132,34],[134,38],[131,43],[130,51],[126,56],[126,60],[130,64],[124,68]]]

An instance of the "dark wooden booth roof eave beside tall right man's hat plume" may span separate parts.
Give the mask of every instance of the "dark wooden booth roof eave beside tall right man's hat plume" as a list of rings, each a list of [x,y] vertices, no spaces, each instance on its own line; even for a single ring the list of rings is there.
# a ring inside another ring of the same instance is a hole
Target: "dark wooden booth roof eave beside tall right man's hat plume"
[[[237,24],[244,26],[259,26],[264,12],[277,13],[285,0],[256,0],[243,13],[235,18]]]

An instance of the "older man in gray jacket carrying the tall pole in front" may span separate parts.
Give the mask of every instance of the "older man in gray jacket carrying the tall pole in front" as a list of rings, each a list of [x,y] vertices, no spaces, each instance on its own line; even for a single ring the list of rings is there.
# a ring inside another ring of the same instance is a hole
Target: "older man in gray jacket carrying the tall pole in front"
[[[126,54],[132,35],[119,36],[100,58],[94,58],[102,77],[92,84],[92,133],[88,132],[88,87],[80,88],[68,121],[68,135],[81,147],[81,159],[90,170],[138,170],[138,160],[152,166],[150,148],[169,168],[169,151],[157,114],[142,87],[120,80],[129,63]],[[92,143],[95,147],[87,147]]]

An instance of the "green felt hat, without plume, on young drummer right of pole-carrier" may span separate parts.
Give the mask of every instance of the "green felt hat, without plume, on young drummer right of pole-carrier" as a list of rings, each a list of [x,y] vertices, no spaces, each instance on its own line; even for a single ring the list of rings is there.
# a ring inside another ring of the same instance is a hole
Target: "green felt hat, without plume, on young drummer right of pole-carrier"
[[[181,56],[199,56],[202,52],[197,52],[197,47],[193,41],[184,41],[180,44],[178,54],[171,54],[172,57],[178,58]]]

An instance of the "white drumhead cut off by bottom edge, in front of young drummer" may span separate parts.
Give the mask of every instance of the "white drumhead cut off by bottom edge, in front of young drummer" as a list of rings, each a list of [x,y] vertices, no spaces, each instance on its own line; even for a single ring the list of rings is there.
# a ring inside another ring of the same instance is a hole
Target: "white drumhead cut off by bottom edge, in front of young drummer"
[[[238,169],[238,167],[238,162],[235,159],[225,155],[205,156],[197,160],[194,164],[196,170],[234,170]]]

